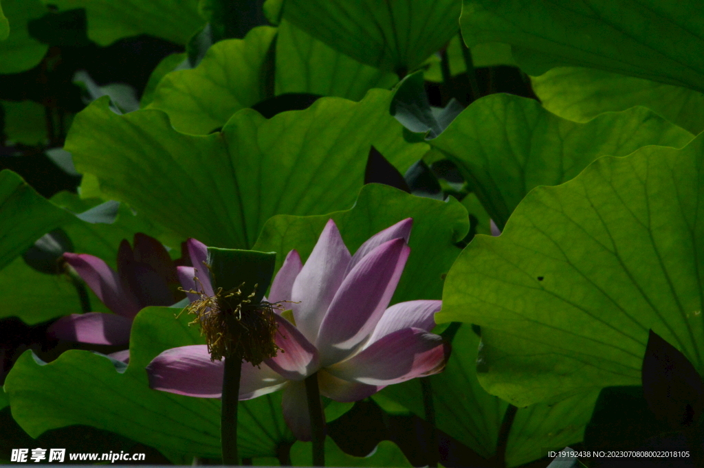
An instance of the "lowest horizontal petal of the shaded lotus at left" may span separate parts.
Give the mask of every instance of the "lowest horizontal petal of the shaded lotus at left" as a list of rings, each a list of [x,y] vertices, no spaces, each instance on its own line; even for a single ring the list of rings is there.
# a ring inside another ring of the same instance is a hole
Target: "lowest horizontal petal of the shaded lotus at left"
[[[47,333],[58,339],[99,345],[130,343],[132,319],[115,314],[89,312],[71,314],[56,320]]]

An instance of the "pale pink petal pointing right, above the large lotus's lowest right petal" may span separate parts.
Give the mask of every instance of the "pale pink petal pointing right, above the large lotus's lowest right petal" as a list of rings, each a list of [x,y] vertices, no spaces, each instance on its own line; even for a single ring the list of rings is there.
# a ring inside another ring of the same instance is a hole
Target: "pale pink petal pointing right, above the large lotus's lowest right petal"
[[[365,343],[365,348],[383,336],[404,328],[432,330],[435,327],[435,312],[441,307],[442,301],[408,301],[391,305],[384,310],[384,315]]]

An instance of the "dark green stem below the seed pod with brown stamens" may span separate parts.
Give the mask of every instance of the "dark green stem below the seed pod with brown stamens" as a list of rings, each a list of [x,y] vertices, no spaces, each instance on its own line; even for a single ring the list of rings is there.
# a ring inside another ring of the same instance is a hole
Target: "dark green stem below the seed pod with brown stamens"
[[[242,360],[225,358],[225,374],[222,377],[222,409],[220,411],[220,442],[222,464],[237,465],[237,404],[239,403],[239,377]]]

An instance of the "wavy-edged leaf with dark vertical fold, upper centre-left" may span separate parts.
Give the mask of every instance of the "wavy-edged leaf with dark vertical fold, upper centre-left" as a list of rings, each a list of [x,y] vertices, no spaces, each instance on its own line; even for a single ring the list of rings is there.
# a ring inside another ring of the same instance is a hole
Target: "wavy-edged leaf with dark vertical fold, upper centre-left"
[[[276,39],[275,39],[276,38]],[[276,41],[274,87],[268,91],[269,51]],[[213,44],[193,70],[169,73],[158,84],[149,108],[168,113],[181,132],[208,134],[237,110],[287,93],[337,96],[353,101],[367,90],[391,88],[396,75],[363,65],[287,21],[263,26],[244,39]]]

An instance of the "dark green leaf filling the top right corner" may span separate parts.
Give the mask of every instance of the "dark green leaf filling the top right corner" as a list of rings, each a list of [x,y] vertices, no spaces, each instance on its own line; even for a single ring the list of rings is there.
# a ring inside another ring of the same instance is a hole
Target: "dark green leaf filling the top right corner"
[[[464,0],[467,45],[503,42],[529,75],[577,65],[704,90],[698,0]]]

